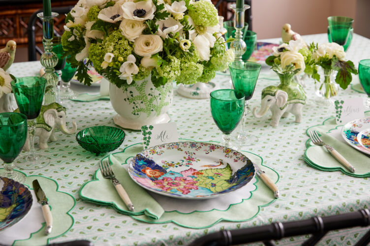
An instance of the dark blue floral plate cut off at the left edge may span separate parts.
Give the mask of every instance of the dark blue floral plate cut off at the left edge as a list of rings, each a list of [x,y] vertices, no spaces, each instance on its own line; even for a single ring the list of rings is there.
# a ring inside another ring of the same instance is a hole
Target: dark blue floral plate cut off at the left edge
[[[32,194],[26,186],[0,177],[0,231],[25,217],[31,205]]]

